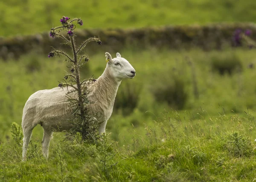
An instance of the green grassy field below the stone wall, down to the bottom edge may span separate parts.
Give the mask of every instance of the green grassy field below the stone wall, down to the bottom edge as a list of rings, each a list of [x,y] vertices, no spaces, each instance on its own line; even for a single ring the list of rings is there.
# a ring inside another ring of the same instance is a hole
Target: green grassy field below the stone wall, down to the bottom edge
[[[19,61],[0,61],[0,179],[255,179],[254,50],[128,48],[120,53],[137,76],[119,87],[107,124],[109,136],[89,145],[79,135],[73,142],[61,142],[64,134],[55,133],[46,160],[41,154],[43,130],[38,125],[25,163],[20,162],[23,106],[35,91],[56,87],[67,70],[66,63],[36,53]],[[83,77],[99,77],[104,68],[105,55],[95,54],[83,69]],[[11,127],[12,122],[17,125]]]

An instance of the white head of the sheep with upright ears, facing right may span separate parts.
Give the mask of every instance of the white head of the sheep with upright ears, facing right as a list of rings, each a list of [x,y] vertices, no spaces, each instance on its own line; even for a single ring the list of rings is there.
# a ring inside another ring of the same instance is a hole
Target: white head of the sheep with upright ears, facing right
[[[106,52],[106,61],[108,62],[107,67],[110,69],[110,73],[117,80],[122,80],[124,78],[134,78],[135,69],[132,65],[121,57],[119,53],[116,53],[116,57],[112,59],[111,55]]]

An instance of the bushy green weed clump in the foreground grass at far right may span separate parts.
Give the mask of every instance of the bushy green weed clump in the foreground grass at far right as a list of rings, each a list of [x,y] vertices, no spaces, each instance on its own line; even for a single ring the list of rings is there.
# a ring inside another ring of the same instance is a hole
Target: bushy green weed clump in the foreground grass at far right
[[[251,139],[237,131],[224,135],[222,142],[223,149],[234,157],[250,157],[253,154]]]

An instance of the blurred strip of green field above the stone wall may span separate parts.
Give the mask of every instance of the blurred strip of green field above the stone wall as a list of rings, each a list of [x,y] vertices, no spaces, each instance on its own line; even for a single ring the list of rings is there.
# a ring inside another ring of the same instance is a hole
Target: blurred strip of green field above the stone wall
[[[255,22],[254,0],[8,0],[0,1],[0,36],[49,31],[61,16],[81,17],[79,28],[134,28],[218,22]]]

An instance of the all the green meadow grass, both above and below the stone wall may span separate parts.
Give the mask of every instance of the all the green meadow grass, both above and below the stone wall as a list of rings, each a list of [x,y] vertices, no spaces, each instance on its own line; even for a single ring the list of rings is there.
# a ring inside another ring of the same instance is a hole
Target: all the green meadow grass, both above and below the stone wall
[[[256,23],[255,9],[254,0],[2,0],[0,43],[4,47],[6,37],[23,40],[23,35],[49,32],[63,15],[81,17],[84,24],[78,29],[186,29],[191,24]],[[21,162],[20,127],[25,102],[38,90],[57,87],[70,70],[63,57],[49,59],[35,48],[20,59],[0,60],[0,182],[255,181],[255,48],[203,51],[177,42],[177,49],[123,45],[120,54],[136,77],[122,81],[106,134],[91,144],[79,134],[70,140],[54,133],[45,159],[38,125],[26,162]],[[115,55],[109,48],[105,51]],[[105,51],[88,52],[82,78],[102,74]]]

